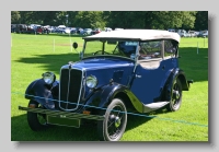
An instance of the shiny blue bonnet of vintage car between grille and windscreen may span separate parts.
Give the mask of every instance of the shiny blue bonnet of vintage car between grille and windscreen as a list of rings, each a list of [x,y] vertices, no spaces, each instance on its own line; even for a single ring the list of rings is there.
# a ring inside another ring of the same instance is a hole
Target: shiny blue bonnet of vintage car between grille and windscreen
[[[134,70],[134,61],[112,59],[112,58],[94,58],[76,62],[71,68],[85,71],[85,77],[95,75],[97,79],[96,87],[107,85],[113,79],[122,85],[128,85],[129,77]],[[101,71],[101,72],[100,72]],[[85,96],[89,95],[89,87],[85,85]]]

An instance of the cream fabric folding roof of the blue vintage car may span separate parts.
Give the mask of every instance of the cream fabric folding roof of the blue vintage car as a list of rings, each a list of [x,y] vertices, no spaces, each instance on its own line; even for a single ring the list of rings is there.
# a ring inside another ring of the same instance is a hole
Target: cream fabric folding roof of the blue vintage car
[[[174,39],[180,43],[181,36],[177,33],[161,30],[120,30],[101,32],[95,35],[83,37],[85,40],[153,40]]]

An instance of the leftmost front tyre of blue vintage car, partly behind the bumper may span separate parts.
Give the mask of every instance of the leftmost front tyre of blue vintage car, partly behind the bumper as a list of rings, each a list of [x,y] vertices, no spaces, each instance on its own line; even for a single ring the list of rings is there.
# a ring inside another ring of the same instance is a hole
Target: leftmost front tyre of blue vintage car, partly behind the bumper
[[[34,104],[36,108],[39,105],[35,101],[30,101],[28,106],[31,104]],[[46,116],[37,114],[37,113],[27,112],[27,122],[28,122],[30,128],[33,131],[41,131],[41,130],[45,130],[46,128],[48,128],[48,125],[46,122]]]

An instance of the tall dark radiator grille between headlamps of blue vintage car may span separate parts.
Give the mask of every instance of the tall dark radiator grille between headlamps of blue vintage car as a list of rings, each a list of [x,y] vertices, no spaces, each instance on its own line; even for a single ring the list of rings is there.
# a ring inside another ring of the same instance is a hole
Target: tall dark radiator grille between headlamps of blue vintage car
[[[82,71],[62,69],[60,74],[59,102],[60,108],[76,109],[80,100]]]

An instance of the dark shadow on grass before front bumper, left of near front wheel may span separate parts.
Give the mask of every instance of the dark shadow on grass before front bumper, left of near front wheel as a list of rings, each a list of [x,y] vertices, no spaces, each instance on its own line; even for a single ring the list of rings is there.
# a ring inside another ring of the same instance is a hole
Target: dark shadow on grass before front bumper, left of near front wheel
[[[11,141],[99,141],[97,129],[93,124],[81,128],[51,126],[43,131],[28,127],[26,114],[11,117]]]

